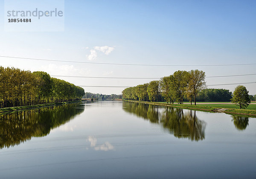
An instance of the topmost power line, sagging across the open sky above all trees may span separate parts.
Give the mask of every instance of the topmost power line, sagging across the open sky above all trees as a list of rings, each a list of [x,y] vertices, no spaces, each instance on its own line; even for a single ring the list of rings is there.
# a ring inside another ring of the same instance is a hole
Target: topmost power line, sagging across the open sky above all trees
[[[36,60],[36,61],[56,61],[56,62],[81,63],[81,64],[126,65],[126,66],[241,66],[241,65],[256,65],[256,63],[252,63],[252,64],[214,64],[214,65],[115,64],[115,63],[99,63],[99,62],[86,62],[86,61],[51,60],[51,59],[41,59],[41,58],[23,58],[23,57],[12,57],[12,56],[2,56],[2,55],[0,55],[0,57],[18,58],[18,59]]]

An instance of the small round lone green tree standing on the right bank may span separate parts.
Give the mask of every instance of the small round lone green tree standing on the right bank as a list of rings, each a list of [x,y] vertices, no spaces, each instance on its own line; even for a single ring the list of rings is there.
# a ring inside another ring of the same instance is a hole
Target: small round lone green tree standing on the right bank
[[[236,103],[240,109],[245,109],[251,101],[248,93],[249,91],[247,91],[246,87],[242,85],[237,86],[231,99],[232,103]]]

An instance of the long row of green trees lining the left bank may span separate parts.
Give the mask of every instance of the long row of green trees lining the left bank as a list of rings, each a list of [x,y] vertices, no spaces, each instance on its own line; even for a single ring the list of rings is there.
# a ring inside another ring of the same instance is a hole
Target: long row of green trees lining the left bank
[[[46,72],[30,72],[0,66],[0,107],[16,107],[81,99],[84,89],[51,78]]]

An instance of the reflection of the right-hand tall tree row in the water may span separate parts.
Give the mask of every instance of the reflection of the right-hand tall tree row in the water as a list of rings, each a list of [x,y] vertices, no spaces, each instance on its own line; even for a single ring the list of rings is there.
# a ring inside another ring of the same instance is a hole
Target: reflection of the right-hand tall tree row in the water
[[[205,139],[206,123],[196,117],[195,111],[190,110],[184,113],[183,109],[171,107],[159,110],[157,106],[141,103],[124,103],[123,110],[143,117],[152,123],[161,124],[177,138],[188,138],[192,141]]]

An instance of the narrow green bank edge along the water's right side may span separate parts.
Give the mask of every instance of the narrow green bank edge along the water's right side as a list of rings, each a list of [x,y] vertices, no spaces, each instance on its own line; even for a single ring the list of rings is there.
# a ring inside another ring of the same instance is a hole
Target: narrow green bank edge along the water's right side
[[[167,104],[167,103],[160,103],[160,102],[148,102],[148,101],[133,101],[133,100],[123,100],[129,102],[136,102],[136,103],[144,103],[144,104],[153,104],[157,106],[168,106],[168,107],[177,107],[189,110],[200,110],[200,111],[207,111],[207,112],[220,112],[220,113],[227,113],[227,114],[239,114],[239,115],[251,115],[253,117],[256,116],[256,110],[239,110],[239,109],[224,109],[223,111],[221,108],[215,108],[210,106],[191,106],[188,104]]]

